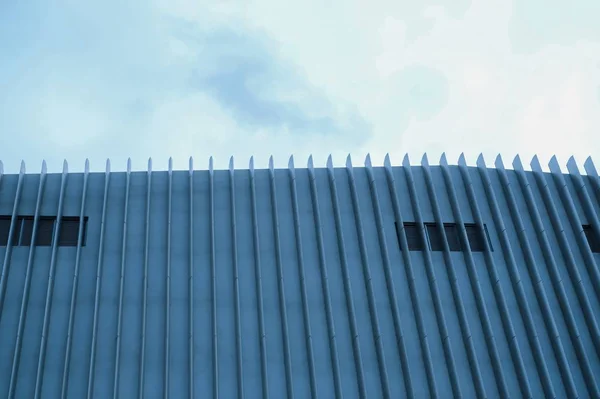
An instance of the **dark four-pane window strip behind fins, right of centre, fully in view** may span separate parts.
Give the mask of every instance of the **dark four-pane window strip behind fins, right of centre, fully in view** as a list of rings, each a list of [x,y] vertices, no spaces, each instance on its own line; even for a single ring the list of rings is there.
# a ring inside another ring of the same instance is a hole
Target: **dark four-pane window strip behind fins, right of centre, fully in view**
[[[490,238],[487,232],[486,225],[483,225],[483,230],[481,230],[479,226],[474,223],[465,223],[464,226],[467,233],[469,248],[472,252],[485,251],[486,247],[484,240],[487,240],[490,251],[494,250],[490,243]],[[400,234],[397,223],[396,232]],[[450,249],[450,251],[460,252],[464,249],[461,245],[461,240],[459,237],[460,232],[456,223],[444,223],[444,233],[446,235],[446,241],[448,243],[448,248]],[[406,235],[406,241],[408,241],[409,251],[422,251],[425,249],[423,245],[423,240],[421,239],[421,236],[419,234],[419,228],[416,223],[404,223],[404,234]],[[429,249],[431,251],[444,250],[444,239],[437,223],[425,223],[425,234],[429,245]]]

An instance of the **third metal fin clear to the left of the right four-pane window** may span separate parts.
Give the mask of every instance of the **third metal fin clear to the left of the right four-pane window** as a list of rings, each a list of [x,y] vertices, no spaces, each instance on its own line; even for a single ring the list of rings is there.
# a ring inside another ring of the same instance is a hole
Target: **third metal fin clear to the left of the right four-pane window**
[[[338,253],[342,276],[344,279],[344,291],[346,296],[346,305],[348,307],[348,318],[350,321],[350,333],[352,335],[352,349],[354,352],[354,361],[356,363],[356,379],[358,383],[359,397],[367,397],[367,388],[365,385],[365,376],[363,370],[363,360],[360,350],[360,336],[358,334],[358,324],[356,322],[356,311],[354,307],[354,296],[352,294],[352,282],[348,273],[348,260],[346,258],[346,244],[344,242],[342,219],[340,216],[340,207],[338,203],[337,186],[335,183],[335,174],[331,155],[327,158],[327,174],[329,175],[329,186],[331,187],[331,201],[333,203],[333,216],[335,218],[335,230],[338,241]]]

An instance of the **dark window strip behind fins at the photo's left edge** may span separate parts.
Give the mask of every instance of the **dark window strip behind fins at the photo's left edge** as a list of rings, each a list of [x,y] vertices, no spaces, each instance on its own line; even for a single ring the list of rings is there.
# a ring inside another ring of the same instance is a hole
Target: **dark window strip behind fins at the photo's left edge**
[[[33,237],[33,216],[18,216],[15,221],[12,245],[30,246]],[[11,216],[0,215],[0,246],[8,244],[8,235],[10,233]],[[52,245],[56,216],[40,216],[38,218],[36,246],[48,247]],[[77,246],[79,235],[79,217],[65,216],[62,218],[58,245],[59,246]],[[87,217],[84,218],[83,241],[85,245],[85,231],[87,227]]]

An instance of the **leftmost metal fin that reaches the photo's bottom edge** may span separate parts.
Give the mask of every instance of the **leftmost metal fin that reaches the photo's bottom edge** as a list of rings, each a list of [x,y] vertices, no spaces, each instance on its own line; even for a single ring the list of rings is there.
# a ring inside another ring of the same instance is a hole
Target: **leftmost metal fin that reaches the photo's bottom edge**
[[[27,305],[29,303],[29,291],[31,289],[31,274],[33,268],[33,257],[35,254],[35,241],[37,229],[40,219],[40,208],[44,198],[44,185],[46,182],[46,161],[42,161],[42,172],[40,174],[40,183],[38,187],[38,195],[35,203],[35,215],[33,218],[33,230],[31,232],[31,244],[29,245],[29,255],[27,257],[27,271],[25,272],[25,286],[23,288],[23,297],[21,298],[21,311],[19,312],[19,324],[17,327],[17,338],[13,350],[13,362],[10,372],[10,383],[8,388],[8,397],[15,397],[17,389],[17,376],[19,374],[19,364],[21,361],[21,347],[23,345],[23,329],[25,328],[25,318],[27,316]]]

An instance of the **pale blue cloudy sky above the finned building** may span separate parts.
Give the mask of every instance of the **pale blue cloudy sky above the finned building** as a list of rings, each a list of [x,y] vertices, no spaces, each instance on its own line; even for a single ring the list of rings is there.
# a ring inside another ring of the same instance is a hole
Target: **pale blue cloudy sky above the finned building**
[[[597,0],[0,5],[0,159],[600,162]]]

